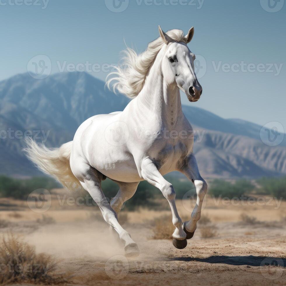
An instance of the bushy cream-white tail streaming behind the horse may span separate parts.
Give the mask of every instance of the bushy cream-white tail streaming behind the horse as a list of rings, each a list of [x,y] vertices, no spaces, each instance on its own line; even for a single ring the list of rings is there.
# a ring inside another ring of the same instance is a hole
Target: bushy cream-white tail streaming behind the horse
[[[31,137],[25,139],[26,156],[42,172],[57,179],[69,190],[81,190],[79,180],[71,172],[69,158],[71,156],[72,141],[62,144],[60,148],[47,148],[37,144]]]

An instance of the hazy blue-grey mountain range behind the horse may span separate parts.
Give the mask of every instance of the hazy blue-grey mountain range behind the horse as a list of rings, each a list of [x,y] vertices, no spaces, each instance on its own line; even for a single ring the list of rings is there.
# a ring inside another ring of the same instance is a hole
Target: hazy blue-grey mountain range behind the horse
[[[21,151],[27,130],[33,137],[39,133],[35,139],[47,146],[58,147],[72,140],[85,119],[123,110],[129,102],[85,72],[42,80],[18,74],[0,82],[0,100],[0,173],[11,176],[40,174]],[[194,151],[205,177],[286,174],[286,137],[279,146],[270,147],[261,141],[259,125],[224,119],[193,106],[183,106],[183,111],[197,132]]]

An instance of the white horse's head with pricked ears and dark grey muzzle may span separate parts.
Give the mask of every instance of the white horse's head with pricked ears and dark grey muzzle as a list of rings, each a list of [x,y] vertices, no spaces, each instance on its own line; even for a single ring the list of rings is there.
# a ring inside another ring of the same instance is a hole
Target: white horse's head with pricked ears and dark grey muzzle
[[[203,89],[194,71],[196,57],[186,45],[193,38],[194,28],[191,27],[184,41],[179,43],[163,32],[160,26],[159,33],[168,45],[162,60],[162,72],[165,81],[168,85],[177,85],[180,90],[186,93],[189,101],[198,101]]]

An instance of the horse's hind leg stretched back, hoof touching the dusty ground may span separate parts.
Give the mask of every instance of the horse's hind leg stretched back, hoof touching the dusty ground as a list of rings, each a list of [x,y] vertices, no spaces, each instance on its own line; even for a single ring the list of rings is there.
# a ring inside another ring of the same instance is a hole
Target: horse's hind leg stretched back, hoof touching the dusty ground
[[[85,171],[77,177],[80,179],[83,188],[90,193],[90,196],[97,203],[104,220],[118,233],[120,240],[125,245],[125,255],[137,256],[139,254],[137,244],[132,240],[130,234],[119,224],[116,212],[109,205],[101,189],[102,174],[86,165]]]

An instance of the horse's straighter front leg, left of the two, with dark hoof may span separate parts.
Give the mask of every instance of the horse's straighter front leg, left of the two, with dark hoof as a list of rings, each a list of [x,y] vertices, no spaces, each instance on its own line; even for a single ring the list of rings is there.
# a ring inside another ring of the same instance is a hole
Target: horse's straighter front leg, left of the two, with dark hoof
[[[187,245],[186,233],[183,230],[182,219],[179,217],[175,204],[176,193],[172,184],[163,178],[155,164],[149,158],[143,160],[141,174],[143,179],[160,189],[163,196],[168,200],[172,211],[172,222],[176,228],[173,233],[173,245],[179,249],[185,248]]]

